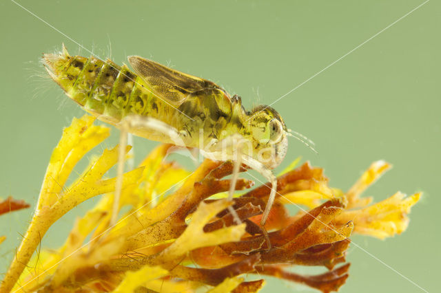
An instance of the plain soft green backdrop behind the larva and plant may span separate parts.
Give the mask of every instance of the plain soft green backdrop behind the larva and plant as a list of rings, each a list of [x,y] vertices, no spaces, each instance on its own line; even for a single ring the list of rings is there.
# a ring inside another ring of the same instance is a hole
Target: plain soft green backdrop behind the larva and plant
[[[249,109],[269,104],[400,19],[423,1],[19,1],[95,54],[123,63],[139,54],[219,83]],[[349,188],[374,160],[393,169],[366,195],[423,191],[406,232],[386,241],[353,237],[359,246],[426,290],[440,272],[440,4],[432,0],[276,102],[288,127],[316,142],[319,155],[290,140],[325,168],[331,185]],[[43,52],[85,50],[8,0],[0,3],[0,197],[34,204],[62,127],[83,111],[45,76]],[[127,63],[127,62],[126,62]],[[112,146],[117,132],[99,146]],[[136,139],[137,158],[154,142]],[[81,169],[79,169],[81,171]],[[52,227],[43,247],[57,248],[90,203]],[[0,272],[31,210],[0,218]],[[420,292],[356,246],[341,292]],[[303,270],[302,272],[310,272]],[[305,287],[271,279],[263,292]]]

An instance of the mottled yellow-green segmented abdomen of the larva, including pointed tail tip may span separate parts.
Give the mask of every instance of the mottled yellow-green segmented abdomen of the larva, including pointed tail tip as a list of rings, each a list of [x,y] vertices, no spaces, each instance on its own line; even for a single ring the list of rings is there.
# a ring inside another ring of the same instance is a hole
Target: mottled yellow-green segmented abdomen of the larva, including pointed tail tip
[[[43,58],[50,76],[66,94],[100,120],[116,124],[124,116],[139,115],[170,122],[175,116],[174,108],[163,103],[126,65],[93,56],[70,56],[67,51]]]

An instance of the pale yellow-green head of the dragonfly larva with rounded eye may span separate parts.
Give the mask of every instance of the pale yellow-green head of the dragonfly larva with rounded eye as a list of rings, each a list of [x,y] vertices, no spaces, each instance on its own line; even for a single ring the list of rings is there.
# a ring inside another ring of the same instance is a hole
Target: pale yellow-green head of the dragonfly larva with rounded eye
[[[260,105],[249,113],[248,123],[258,160],[269,169],[276,168],[288,149],[287,127],[282,117],[273,108]]]

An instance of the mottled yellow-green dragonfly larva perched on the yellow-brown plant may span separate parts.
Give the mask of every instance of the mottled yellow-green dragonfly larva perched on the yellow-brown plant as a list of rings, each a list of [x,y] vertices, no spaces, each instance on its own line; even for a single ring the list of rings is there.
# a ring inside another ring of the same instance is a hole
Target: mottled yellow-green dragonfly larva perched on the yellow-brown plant
[[[119,128],[129,121],[129,133],[198,148],[207,158],[233,160],[264,175],[272,184],[265,224],[276,195],[271,169],[282,162],[292,135],[274,109],[246,111],[239,96],[215,83],[139,56],[128,57],[134,72],[108,59],[70,56],[64,45],[43,61],[65,93],[99,120]]]

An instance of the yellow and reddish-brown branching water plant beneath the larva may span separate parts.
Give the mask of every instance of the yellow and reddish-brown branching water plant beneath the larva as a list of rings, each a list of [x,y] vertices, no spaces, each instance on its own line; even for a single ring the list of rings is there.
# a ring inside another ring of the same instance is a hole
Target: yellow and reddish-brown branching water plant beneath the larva
[[[349,237],[399,234],[420,198],[396,193],[371,204],[371,198],[360,197],[389,169],[386,162],[374,162],[347,193],[331,188],[322,169],[305,163],[278,177],[276,203],[261,227],[270,184],[228,202],[220,194],[229,190],[231,162],[205,160],[189,172],[167,161],[172,145],[161,144],[123,174],[119,206],[130,208],[112,225],[116,178],[107,178],[107,171],[118,161],[118,146],[92,158],[66,186],[76,163],[109,135],[93,122],[83,116],[63,130],[0,292],[257,292],[265,276],[336,291],[349,276]],[[236,191],[253,185],[239,179]],[[63,246],[36,251],[55,221],[98,195]],[[300,205],[296,215],[288,213],[291,204]],[[235,223],[229,206],[242,224]],[[345,264],[336,267],[340,263]],[[291,265],[320,265],[327,272],[303,276],[286,270]],[[258,280],[247,281],[253,274]]]

